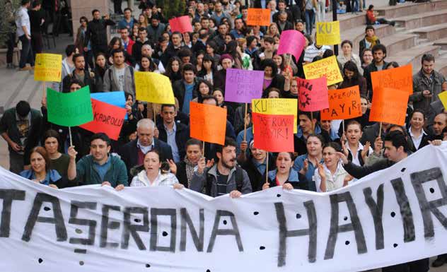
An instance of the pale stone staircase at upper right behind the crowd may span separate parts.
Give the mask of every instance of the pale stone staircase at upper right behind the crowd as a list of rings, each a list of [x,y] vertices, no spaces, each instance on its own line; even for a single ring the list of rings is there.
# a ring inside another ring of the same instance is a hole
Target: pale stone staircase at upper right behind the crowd
[[[434,0],[397,6],[378,6],[379,16],[395,20],[391,25],[375,25],[376,35],[387,47],[386,61],[412,64],[413,72],[421,69],[421,57],[433,54],[435,69],[447,76],[447,0]],[[359,52],[359,41],[364,38],[365,13],[340,17],[342,40],[352,40],[354,52]],[[344,26],[344,27],[342,27]]]

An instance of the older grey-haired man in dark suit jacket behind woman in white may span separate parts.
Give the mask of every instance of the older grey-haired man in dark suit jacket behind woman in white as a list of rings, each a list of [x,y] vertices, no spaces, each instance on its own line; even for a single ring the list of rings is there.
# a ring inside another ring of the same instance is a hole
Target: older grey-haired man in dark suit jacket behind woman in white
[[[167,143],[153,138],[153,131],[155,130],[155,124],[151,119],[141,119],[137,123],[137,136],[134,141],[126,143],[120,149],[121,159],[127,167],[127,172],[130,174],[132,167],[143,165],[144,155],[152,149],[158,150],[161,161],[167,159],[173,159],[173,153]],[[132,179],[132,175],[128,175],[129,180]]]

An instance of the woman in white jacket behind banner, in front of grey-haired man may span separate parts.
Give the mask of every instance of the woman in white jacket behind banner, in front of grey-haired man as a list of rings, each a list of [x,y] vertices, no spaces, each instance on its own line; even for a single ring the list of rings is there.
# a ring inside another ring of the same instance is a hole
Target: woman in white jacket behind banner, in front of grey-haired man
[[[174,189],[183,188],[173,173],[161,169],[160,155],[156,149],[150,150],[144,155],[143,163],[144,170],[132,179],[131,187],[172,186]]]

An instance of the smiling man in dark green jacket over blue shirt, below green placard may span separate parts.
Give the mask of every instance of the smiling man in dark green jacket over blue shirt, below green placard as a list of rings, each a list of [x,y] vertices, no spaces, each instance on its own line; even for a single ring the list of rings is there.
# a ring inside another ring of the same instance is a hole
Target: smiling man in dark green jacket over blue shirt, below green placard
[[[76,179],[81,185],[101,184],[112,186],[117,191],[129,186],[126,165],[120,156],[110,153],[110,138],[103,133],[93,134],[90,142],[90,154],[76,163],[69,171],[71,181]]]

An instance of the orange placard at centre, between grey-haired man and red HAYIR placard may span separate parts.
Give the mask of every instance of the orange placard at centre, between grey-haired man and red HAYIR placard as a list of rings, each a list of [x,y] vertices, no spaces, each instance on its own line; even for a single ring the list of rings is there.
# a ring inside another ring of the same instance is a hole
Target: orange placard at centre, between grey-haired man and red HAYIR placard
[[[190,102],[190,136],[208,143],[225,143],[226,109]]]

